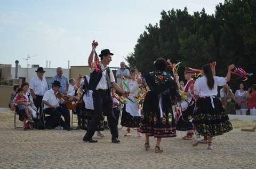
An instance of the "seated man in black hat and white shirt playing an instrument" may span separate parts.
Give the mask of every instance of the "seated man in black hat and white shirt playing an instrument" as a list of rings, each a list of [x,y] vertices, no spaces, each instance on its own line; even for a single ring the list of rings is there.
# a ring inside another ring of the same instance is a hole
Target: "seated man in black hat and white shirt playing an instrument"
[[[48,129],[55,128],[56,126],[59,125],[61,112],[69,111],[60,107],[60,103],[61,104],[65,103],[65,100],[57,96],[60,90],[60,87],[61,87],[60,82],[54,81],[52,83],[52,88],[50,90],[47,90],[43,96],[42,102],[44,103],[44,112],[45,114],[51,116],[51,118],[49,118],[46,121],[46,127]],[[60,94],[60,96],[61,95],[63,94]],[[68,112],[66,112],[66,114],[67,113]],[[62,123],[61,125],[63,127],[63,130],[68,130],[68,131],[70,130],[70,127],[65,123]]]

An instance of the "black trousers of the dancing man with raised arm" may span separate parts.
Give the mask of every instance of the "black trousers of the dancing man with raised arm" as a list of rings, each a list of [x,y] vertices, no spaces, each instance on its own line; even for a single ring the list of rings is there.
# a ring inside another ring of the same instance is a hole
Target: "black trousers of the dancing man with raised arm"
[[[112,139],[118,138],[118,128],[116,117],[113,112],[113,100],[110,96],[110,93],[104,91],[93,91],[93,119],[90,123],[90,126],[84,136],[85,139],[91,139],[94,135],[94,132],[97,130],[100,119],[102,119],[102,112],[105,111],[108,119],[108,125],[110,127],[110,133]]]

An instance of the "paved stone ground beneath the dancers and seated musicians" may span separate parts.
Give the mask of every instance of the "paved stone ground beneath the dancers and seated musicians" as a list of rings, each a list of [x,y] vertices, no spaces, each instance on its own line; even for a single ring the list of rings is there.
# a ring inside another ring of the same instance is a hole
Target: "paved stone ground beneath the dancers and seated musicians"
[[[237,122],[236,122],[237,123]],[[254,122],[256,124],[256,122]],[[143,148],[144,136],[124,137],[120,144],[111,143],[109,130],[98,143],[85,143],[85,131],[14,129],[11,112],[0,114],[0,168],[256,168],[256,132],[240,128],[214,138],[214,150],[206,144],[192,147],[193,141],[163,139],[162,154]]]

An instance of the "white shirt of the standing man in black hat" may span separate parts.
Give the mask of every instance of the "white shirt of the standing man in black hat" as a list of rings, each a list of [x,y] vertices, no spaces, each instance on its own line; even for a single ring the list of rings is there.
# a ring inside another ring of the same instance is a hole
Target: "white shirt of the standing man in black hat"
[[[38,76],[35,76],[30,80],[29,88],[33,89],[36,95],[44,95],[48,90],[48,85],[44,77],[41,81]]]

